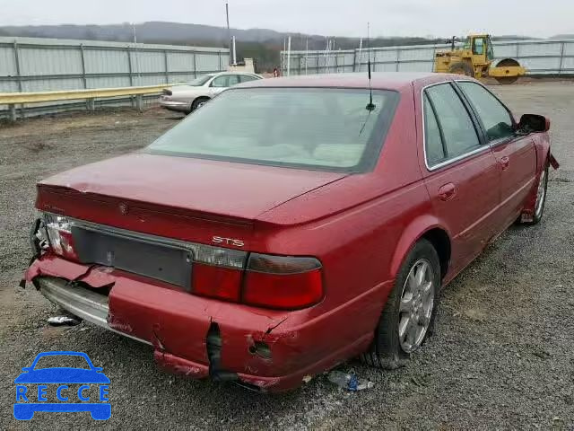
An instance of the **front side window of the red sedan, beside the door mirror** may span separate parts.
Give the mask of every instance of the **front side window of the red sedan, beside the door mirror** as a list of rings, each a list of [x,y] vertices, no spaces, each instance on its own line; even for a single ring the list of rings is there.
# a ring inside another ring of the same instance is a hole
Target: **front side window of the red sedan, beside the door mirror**
[[[463,82],[458,86],[478,112],[489,141],[514,135],[513,121],[509,110],[482,85]]]

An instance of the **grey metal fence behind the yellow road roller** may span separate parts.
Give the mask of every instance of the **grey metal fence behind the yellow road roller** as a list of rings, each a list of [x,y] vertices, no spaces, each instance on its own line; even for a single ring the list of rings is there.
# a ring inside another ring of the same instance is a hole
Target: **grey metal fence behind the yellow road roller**
[[[460,46],[460,44],[459,44]],[[416,45],[338,51],[291,51],[291,75],[336,74],[367,70],[370,53],[376,72],[432,72],[435,52],[450,45]],[[573,75],[574,40],[517,40],[494,42],[494,65],[515,58],[526,75]],[[288,75],[288,55],[282,51],[283,75]]]

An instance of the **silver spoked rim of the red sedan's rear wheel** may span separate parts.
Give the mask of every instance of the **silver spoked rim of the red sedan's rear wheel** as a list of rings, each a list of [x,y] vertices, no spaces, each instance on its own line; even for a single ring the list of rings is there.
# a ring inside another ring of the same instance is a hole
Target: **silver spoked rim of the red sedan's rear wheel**
[[[401,348],[411,353],[421,347],[431,324],[434,306],[434,271],[427,259],[417,260],[403,286],[399,306],[398,339]]]

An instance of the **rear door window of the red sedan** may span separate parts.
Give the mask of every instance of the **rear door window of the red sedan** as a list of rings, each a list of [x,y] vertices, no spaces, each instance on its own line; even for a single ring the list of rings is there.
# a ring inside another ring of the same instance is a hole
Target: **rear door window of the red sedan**
[[[479,148],[481,143],[463,101],[451,84],[433,85],[425,90],[446,149],[444,159],[452,159]],[[430,161],[427,161],[430,163]]]

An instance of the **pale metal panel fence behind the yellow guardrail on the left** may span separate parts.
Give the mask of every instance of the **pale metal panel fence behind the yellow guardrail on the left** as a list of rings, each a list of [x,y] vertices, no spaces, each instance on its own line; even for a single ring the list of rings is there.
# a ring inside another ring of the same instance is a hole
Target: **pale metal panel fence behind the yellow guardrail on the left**
[[[229,49],[94,40],[0,38],[0,92],[45,92],[172,84],[226,70]],[[98,101],[122,104],[130,99]],[[21,107],[22,116],[75,109],[78,102]],[[57,105],[57,106],[56,106]],[[7,106],[0,106],[0,117]]]

